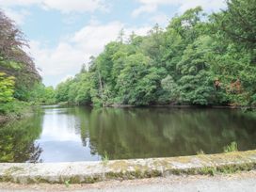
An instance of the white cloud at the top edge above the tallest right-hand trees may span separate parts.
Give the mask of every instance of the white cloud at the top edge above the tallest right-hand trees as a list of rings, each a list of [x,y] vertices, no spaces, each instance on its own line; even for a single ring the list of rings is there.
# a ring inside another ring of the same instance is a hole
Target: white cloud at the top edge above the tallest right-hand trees
[[[215,11],[219,8],[225,7],[224,0],[137,0],[141,6],[136,8],[132,16],[136,17],[142,13],[152,13],[157,10],[159,6],[175,6],[179,8],[180,12],[188,8],[195,8],[201,6],[206,11]]]

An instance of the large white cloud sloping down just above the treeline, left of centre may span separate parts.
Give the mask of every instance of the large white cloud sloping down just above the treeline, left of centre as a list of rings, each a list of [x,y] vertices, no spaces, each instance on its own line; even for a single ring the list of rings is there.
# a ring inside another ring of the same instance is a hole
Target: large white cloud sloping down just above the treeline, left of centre
[[[30,52],[35,57],[35,63],[41,69],[43,76],[67,76],[72,72],[78,72],[83,63],[88,63],[90,56],[100,54],[106,43],[117,40],[122,28],[127,36],[132,31],[137,35],[146,35],[150,30],[148,26],[126,27],[120,22],[108,24],[93,22],[61,39],[55,48],[49,48],[39,41],[31,41]]]

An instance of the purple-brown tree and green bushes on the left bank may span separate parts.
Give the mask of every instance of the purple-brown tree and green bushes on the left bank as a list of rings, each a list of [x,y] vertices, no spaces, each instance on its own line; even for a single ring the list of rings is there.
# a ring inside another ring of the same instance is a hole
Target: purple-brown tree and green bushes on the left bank
[[[19,115],[29,105],[24,102],[55,103],[54,89],[42,85],[24,46],[23,33],[0,10],[0,114]]]

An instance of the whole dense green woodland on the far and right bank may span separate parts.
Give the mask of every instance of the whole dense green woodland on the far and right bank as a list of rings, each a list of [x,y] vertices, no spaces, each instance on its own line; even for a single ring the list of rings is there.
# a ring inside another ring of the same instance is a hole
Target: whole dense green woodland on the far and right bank
[[[71,104],[256,104],[255,0],[229,0],[207,16],[193,8],[163,30],[108,43],[56,88]]]

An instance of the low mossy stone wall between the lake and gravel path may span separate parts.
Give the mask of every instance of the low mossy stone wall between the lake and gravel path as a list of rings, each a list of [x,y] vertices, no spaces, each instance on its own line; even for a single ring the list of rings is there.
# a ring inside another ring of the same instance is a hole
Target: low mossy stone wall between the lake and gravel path
[[[168,175],[214,175],[256,168],[256,151],[102,162],[0,164],[0,181],[21,184],[91,184]]]

